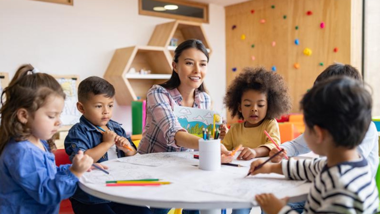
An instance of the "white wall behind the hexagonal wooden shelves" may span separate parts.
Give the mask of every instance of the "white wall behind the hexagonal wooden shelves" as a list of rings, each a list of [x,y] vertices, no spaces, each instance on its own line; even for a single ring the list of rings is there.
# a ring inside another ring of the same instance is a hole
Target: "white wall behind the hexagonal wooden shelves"
[[[204,24],[213,53],[206,86],[214,109],[225,93],[225,12],[210,5]],[[116,48],[146,45],[155,25],[171,19],[138,14],[138,0],[74,0],[74,6],[33,0],[0,0],[0,71],[13,77],[30,63],[41,72],[81,79],[103,77]],[[224,111],[223,111],[224,112]],[[115,105],[113,118],[131,131],[130,106]]]

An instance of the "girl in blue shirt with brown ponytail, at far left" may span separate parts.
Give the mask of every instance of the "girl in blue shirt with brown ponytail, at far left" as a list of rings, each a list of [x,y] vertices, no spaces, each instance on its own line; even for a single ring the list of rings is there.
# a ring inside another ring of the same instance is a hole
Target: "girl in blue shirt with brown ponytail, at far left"
[[[52,76],[33,71],[21,66],[2,93],[0,213],[58,213],[93,163],[79,152],[73,164],[55,166],[51,139],[61,125],[65,93]]]

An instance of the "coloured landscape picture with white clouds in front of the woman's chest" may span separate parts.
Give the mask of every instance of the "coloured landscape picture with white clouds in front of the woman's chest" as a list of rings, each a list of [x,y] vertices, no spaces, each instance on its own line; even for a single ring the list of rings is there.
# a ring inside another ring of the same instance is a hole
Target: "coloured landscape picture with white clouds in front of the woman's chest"
[[[198,137],[203,137],[203,128],[208,129],[211,131],[211,134],[214,134],[212,127],[214,125],[214,114],[216,128],[222,124],[221,114],[212,110],[174,106],[173,112],[182,128]]]

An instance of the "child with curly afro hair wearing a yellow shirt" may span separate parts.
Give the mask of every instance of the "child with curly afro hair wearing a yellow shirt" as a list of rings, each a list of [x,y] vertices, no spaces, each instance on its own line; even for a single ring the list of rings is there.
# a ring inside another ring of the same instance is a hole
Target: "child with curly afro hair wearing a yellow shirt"
[[[224,104],[232,117],[244,120],[231,126],[223,144],[232,150],[242,144],[238,160],[268,156],[275,147],[264,130],[280,144],[275,118],[291,109],[288,88],[282,76],[263,67],[246,67],[227,89]]]

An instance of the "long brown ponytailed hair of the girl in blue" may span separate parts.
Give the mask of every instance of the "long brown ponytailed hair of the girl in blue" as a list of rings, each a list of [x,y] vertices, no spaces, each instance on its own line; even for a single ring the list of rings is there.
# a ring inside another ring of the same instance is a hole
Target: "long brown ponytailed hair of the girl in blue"
[[[50,95],[60,96],[63,99],[66,97],[54,77],[46,73],[34,73],[33,70],[30,64],[22,65],[9,86],[3,90],[1,98],[3,106],[0,110],[0,154],[11,138],[15,141],[24,141],[32,134],[26,124],[18,120],[18,109],[24,108],[34,117],[36,110],[45,104],[46,98]],[[49,139],[47,143],[51,151],[56,149],[53,139]]]

